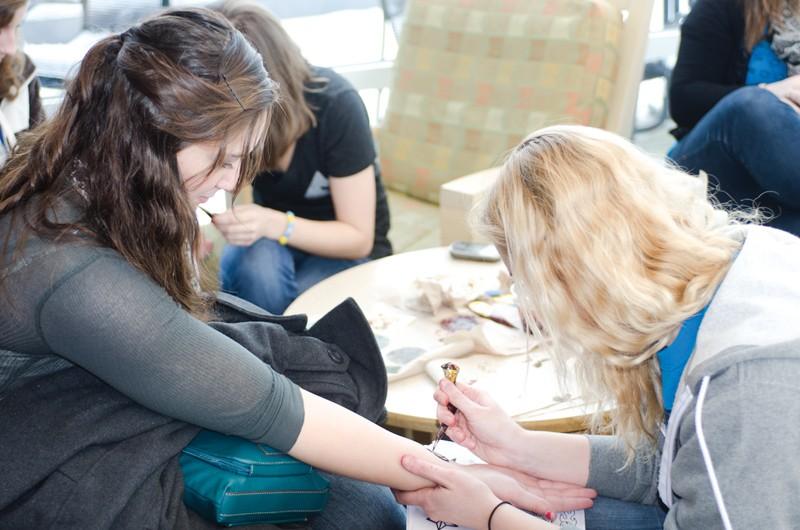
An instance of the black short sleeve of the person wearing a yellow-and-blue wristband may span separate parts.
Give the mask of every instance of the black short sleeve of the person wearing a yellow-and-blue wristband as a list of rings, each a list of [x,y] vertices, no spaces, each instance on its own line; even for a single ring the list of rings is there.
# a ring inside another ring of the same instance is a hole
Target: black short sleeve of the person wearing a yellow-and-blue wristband
[[[324,169],[329,176],[349,177],[375,162],[367,109],[354,89],[334,97],[319,127]]]

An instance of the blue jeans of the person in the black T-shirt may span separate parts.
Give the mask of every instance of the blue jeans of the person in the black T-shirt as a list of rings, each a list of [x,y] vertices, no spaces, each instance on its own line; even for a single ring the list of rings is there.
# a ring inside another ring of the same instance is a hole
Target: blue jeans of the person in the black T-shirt
[[[315,283],[365,261],[324,258],[261,238],[249,247],[225,245],[220,283],[223,291],[281,315]]]

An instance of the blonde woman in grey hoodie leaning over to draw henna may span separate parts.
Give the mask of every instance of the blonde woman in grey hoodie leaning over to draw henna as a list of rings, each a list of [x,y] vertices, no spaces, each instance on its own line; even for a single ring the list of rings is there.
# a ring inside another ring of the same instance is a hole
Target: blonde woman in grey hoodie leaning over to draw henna
[[[701,179],[571,126],[511,153],[481,220],[528,321],[611,405],[595,427],[613,436],[526,432],[485,394],[443,381],[435,398],[452,439],[596,489],[589,529],[796,527],[800,239],[737,222]],[[400,500],[436,518],[550,528],[457,470],[403,464],[439,486]]]

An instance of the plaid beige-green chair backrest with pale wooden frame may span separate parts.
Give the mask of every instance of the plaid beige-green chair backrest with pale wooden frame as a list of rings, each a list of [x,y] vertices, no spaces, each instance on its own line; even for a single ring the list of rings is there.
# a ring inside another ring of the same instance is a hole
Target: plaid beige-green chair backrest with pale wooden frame
[[[387,185],[438,202],[538,128],[630,135],[652,4],[409,0],[378,129]]]

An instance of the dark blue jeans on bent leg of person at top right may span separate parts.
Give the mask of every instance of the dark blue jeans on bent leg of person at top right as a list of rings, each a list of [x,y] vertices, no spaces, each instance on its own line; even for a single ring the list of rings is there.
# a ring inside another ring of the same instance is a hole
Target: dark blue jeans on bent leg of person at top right
[[[718,182],[716,198],[761,206],[766,224],[800,235],[800,114],[768,90],[743,87],[717,103],[669,152],[687,171]]]

